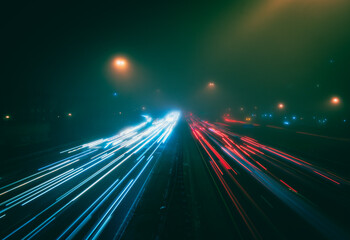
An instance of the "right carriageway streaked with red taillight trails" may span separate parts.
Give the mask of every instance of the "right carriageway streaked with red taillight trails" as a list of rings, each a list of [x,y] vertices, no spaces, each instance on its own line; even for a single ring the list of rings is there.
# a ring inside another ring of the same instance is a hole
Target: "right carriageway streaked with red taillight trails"
[[[243,135],[244,125],[187,120],[235,218],[238,238],[349,237],[348,180],[317,166],[317,160]],[[239,128],[241,134],[233,132]]]

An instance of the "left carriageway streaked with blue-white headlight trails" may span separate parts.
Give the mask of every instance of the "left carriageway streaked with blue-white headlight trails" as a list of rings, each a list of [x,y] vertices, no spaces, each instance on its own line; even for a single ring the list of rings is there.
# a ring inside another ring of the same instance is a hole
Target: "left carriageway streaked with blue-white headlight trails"
[[[146,118],[115,136],[61,151],[56,158],[46,152],[40,168],[26,165],[31,174],[3,173],[1,238],[118,237],[177,119],[178,113],[152,122]]]

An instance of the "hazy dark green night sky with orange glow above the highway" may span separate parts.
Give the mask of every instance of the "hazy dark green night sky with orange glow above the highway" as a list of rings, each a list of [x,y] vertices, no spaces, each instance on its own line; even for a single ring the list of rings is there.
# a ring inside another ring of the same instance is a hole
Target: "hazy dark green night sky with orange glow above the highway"
[[[349,114],[347,0],[13,2],[1,10],[1,109],[96,102]],[[11,5],[9,5],[11,4]],[[130,74],[116,76],[116,56]],[[216,88],[207,89],[208,82]]]

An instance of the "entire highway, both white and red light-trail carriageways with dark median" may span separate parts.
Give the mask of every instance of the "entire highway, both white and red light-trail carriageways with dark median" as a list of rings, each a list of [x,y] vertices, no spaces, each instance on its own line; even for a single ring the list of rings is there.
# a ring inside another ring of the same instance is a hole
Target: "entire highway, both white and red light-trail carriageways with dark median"
[[[146,121],[2,171],[0,237],[349,238],[348,163],[328,153],[345,153],[344,140],[195,116],[174,129],[176,121]]]

